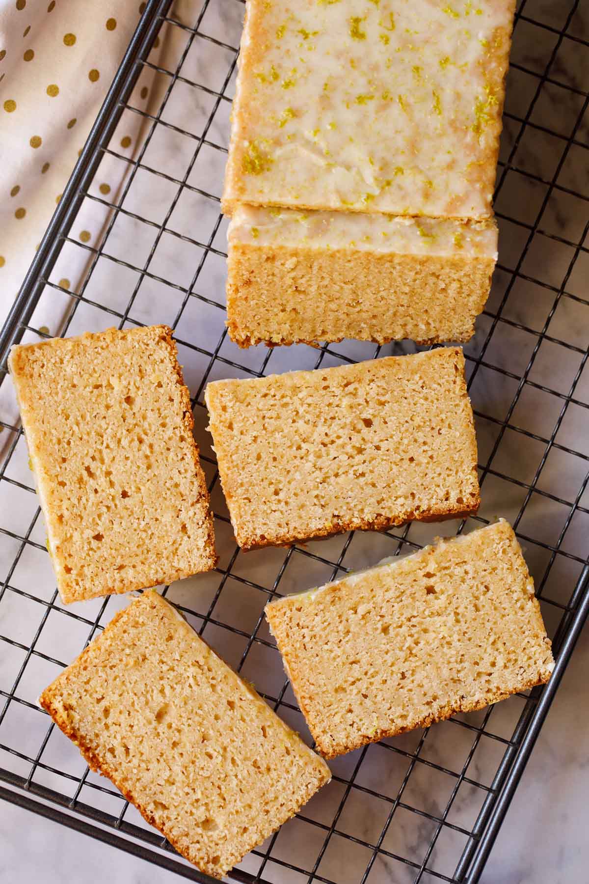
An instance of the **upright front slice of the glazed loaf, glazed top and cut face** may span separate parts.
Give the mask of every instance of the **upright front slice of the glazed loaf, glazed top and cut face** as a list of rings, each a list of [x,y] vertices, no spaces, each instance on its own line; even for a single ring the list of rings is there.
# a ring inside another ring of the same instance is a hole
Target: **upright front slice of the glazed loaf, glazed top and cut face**
[[[466,341],[497,258],[494,220],[239,206],[227,324],[240,347]]]

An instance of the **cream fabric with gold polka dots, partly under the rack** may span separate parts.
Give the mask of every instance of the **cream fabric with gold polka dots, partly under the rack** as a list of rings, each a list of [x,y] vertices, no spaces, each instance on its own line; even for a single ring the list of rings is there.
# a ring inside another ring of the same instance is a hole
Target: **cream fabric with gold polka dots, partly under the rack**
[[[18,5],[15,0],[0,0],[0,324],[56,209],[143,5],[139,0],[56,0],[55,4],[52,0],[18,0]],[[241,4],[237,5],[241,9]],[[199,11],[200,0],[176,0],[170,15],[190,27]],[[72,36],[66,36],[69,34]],[[186,40],[185,29],[164,25],[149,61],[173,71]],[[121,202],[133,168],[118,157],[132,160],[139,156],[154,125],[136,111],[155,113],[169,83],[168,76],[156,76],[152,67],[146,65],[141,71],[128,101],[134,110],[124,110],[109,143],[109,150],[117,156],[105,153],[102,157],[89,188],[93,198],[88,196],[82,202],[70,232],[77,245],[64,244],[50,274],[52,284],[72,293],[83,290],[95,255],[93,248],[103,242],[112,206]],[[57,94],[56,88],[49,87],[57,87]],[[8,103],[7,110],[4,103]],[[35,138],[37,147],[31,146],[34,136],[41,139],[38,144]],[[165,167],[167,143],[162,141],[155,156],[152,152],[150,162],[155,168]],[[140,212],[145,212],[146,205],[141,205]],[[161,194],[153,194],[150,205],[158,211],[165,209]],[[120,307],[112,292],[107,286],[94,294],[103,303]],[[46,334],[59,335],[71,308],[69,298],[48,286],[34,309],[32,324]],[[141,319],[146,324],[161,321],[161,305],[156,299],[147,302]],[[103,313],[101,323],[93,325],[86,317],[69,331],[99,331],[117,324],[117,318]],[[25,331],[22,342],[37,339],[34,332]],[[11,383],[0,387],[0,421],[11,426],[19,422]],[[0,453],[11,444],[11,434],[4,429],[0,424]]]

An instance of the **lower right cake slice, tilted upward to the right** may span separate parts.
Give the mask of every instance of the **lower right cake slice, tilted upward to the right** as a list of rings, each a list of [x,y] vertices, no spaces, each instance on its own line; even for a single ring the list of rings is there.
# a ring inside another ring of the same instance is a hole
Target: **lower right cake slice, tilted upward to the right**
[[[326,758],[496,703],[554,667],[503,521],[281,598],[266,615]]]

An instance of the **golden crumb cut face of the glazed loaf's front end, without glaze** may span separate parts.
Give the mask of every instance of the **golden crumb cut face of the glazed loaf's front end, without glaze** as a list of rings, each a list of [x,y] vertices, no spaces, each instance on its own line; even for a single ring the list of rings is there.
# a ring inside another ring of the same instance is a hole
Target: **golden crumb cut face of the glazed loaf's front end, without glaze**
[[[227,326],[239,347],[465,342],[494,268],[493,257],[232,244]]]

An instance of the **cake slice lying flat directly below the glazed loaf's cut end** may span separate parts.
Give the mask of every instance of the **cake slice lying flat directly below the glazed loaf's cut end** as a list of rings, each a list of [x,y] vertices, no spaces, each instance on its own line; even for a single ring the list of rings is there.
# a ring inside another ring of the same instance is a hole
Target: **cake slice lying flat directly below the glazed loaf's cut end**
[[[459,347],[214,381],[205,398],[231,524],[244,549],[479,506]]]

